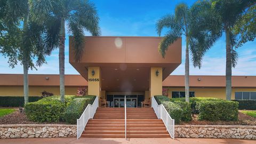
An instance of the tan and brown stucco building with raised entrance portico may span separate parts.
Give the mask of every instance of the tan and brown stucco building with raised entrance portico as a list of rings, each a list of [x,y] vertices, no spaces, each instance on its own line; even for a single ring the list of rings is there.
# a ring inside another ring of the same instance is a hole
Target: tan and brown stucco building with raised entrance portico
[[[122,107],[166,91],[168,97],[185,96],[184,76],[170,75],[181,63],[181,38],[166,52],[158,53],[161,37],[85,37],[84,53],[79,62],[69,39],[69,62],[81,75],[65,76],[65,93],[76,94],[86,88],[88,94],[99,95],[110,107]],[[0,74],[0,96],[22,96],[21,74]],[[232,99],[256,99],[256,76],[233,76]],[[58,75],[29,75],[29,95],[42,91],[59,94]],[[190,76],[191,97],[226,98],[225,76]]]

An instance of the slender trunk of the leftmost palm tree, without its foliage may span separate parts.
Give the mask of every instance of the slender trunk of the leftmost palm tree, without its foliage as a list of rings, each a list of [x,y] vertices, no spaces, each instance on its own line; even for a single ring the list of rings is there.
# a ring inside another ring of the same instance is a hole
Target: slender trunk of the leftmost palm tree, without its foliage
[[[26,31],[27,25],[28,25],[28,18],[29,18],[29,10],[27,10],[27,13],[24,17],[23,22],[23,31]],[[22,47],[23,51],[23,94],[24,94],[24,103],[28,103],[28,51],[26,50],[26,47]]]

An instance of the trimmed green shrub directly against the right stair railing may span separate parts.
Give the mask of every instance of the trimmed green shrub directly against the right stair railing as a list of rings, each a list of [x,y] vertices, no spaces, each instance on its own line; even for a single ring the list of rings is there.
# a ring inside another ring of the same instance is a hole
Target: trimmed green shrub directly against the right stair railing
[[[171,101],[164,101],[162,104],[165,107],[167,113],[169,113],[169,115],[172,117],[172,119],[175,119],[175,124],[179,124],[183,113],[180,106]]]

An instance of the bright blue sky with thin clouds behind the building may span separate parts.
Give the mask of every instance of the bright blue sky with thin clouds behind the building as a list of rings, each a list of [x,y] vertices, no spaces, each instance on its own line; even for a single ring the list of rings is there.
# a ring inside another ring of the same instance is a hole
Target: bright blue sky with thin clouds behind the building
[[[121,0],[94,0],[100,17],[102,36],[157,36],[156,21],[167,13],[174,13],[176,4],[185,2],[188,5],[195,1],[121,1]],[[89,35],[86,33],[86,35]],[[182,38],[182,63],[173,71],[172,75],[184,75],[185,38]],[[225,75],[226,51],[225,36],[214,44],[205,54],[201,69],[194,68],[190,60],[190,75]],[[256,41],[248,42],[237,49],[239,60],[233,75],[256,75]],[[59,74],[59,51],[56,50],[47,57],[47,64],[29,70],[29,74]],[[190,55],[191,58],[191,55]],[[68,63],[68,35],[65,43],[65,74],[78,74]],[[22,66],[10,68],[0,55],[0,73],[22,74]]]

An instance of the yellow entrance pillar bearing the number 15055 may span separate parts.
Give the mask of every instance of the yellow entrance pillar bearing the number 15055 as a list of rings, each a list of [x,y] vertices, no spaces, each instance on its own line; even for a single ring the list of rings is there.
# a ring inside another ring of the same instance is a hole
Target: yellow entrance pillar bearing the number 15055
[[[94,70],[94,75],[92,71]],[[99,79],[99,81],[90,81],[91,79]],[[101,71],[100,67],[89,67],[88,68],[88,94],[98,95],[101,97]]]

